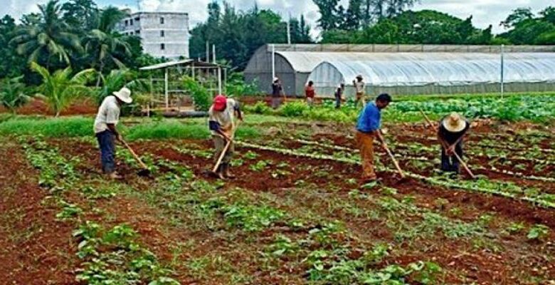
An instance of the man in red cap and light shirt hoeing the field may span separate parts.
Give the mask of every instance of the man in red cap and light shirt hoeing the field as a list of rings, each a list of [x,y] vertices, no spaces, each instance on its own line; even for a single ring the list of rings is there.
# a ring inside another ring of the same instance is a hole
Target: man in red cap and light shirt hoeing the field
[[[226,147],[227,142],[231,142],[229,148],[224,155],[221,165],[218,167],[216,174],[220,179],[235,178],[229,171],[231,157],[235,151],[233,146],[233,135],[235,123],[233,118],[237,116],[238,120],[243,120],[239,103],[236,100],[228,99],[224,95],[217,95],[214,102],[208,110],[208,125],[212,133],[214,142],[214,160],[218,160],[221,152]]]

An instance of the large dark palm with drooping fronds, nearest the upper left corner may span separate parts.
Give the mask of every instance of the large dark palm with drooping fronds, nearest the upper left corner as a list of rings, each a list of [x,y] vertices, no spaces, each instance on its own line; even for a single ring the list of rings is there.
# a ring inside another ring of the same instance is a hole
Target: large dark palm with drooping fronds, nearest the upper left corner
[[[38,24],[19,28],[11,42],[18,45],[20,55],[28,55],[29,62],[40,62],[46,56],[46,68],[50,68],[52,57],[58,56],[58,61],[69,64],[71,52],[83,48],[78,36],[68,32],[68,25],[62,21],[58,0],[38,5],[38,9]]]

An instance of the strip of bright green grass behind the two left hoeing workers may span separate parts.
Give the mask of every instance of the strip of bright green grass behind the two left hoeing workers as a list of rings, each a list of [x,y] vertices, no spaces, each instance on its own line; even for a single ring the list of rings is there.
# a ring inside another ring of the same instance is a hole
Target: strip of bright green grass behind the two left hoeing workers
[[[0,135],[42,135],[49,138],[92,137],[93,118],[64,117],[36,118],[16,116],[0,121]],[[164,139],[206,139],[210,132],[206,122],[184,124],[179,120],[142,120],[137,125],[120,125],[125,138],[129,140]],[[255,138],[260,132],[252,127],[242,126],[237,131],[238,138]]]

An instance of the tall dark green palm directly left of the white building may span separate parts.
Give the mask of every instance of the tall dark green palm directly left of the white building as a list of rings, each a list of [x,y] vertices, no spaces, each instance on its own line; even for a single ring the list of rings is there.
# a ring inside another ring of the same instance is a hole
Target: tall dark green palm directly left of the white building
[[[93,29],[83,39],[85,51],[93,60],[93,68],[100,75],[109,63],[115,63],[118,68],[125,68],[125,64],[118,56],[131,55],[131,46],[127,42],[128,37],[115,31],[115,25],[125,17],[125,13],[115,7],[107,7],[100,13],[97,28]],[[101,78],[98,77],[97,86],[100,86]]]

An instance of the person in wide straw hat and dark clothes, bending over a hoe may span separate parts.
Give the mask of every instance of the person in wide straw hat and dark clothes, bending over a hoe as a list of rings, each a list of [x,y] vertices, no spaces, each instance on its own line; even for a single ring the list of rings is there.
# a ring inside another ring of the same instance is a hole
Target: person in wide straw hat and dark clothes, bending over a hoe
[[[459,172],[459,157],[462,157],[462,138],[464,138],[470,123],[458,113],[451,113],[440,121],[438,140],[441,143],[441,170],[445,172]]]

